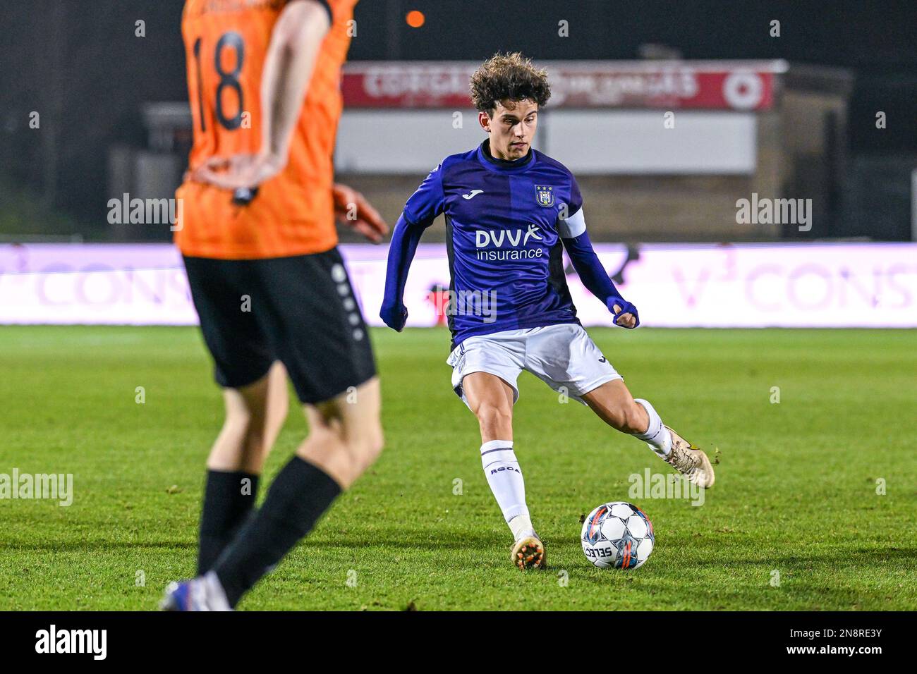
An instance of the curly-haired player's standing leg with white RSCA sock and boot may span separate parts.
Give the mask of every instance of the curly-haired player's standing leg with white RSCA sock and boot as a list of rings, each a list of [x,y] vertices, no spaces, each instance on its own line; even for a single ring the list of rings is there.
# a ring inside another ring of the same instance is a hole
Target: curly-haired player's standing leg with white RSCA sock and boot
[[[481,426],[481,465],[513,532],[511,559],[519,569],[544,569],[545,547],[525,504],[525,481],[513,451],[513,387],[490,372],[472,372],[462,391]]]

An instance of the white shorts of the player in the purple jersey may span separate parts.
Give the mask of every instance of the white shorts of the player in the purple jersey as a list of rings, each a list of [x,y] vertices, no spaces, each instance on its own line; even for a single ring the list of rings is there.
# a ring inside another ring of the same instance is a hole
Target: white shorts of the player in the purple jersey
[[[468,337],[449,354],[452,389],[465,404],[461,381],[471,372],[489,372],[513,387],[513,402],[519,400],[516,380],[528,370],[557,392],[580,401],[606,381],[624,379],[614,370],[582,326],[559,326],[504,330],[492,335]],[[585,404],[585,403],[584,403]]]

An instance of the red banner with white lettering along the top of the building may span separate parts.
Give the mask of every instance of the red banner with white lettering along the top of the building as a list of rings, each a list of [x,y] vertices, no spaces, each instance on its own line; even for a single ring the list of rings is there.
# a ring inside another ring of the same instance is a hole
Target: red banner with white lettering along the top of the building
[[[347,107],[468,108],[469,62],[345,66]],[[558,61],[546,63],[551,107],[767,110],[783,61]]]

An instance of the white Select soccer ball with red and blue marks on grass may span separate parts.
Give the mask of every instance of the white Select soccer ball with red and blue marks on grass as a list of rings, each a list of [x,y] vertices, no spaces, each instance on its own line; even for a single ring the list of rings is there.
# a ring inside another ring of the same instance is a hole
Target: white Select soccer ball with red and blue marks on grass
[[[582,523],[582,551],[599,569],[636,569],[653,551],[653,523],[630,503],[602,503]]]

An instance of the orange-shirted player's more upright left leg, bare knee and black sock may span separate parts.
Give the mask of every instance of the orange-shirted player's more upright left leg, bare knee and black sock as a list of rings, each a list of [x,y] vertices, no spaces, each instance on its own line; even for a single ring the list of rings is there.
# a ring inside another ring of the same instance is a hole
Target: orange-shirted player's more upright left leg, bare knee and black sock
[[[260,380],[224,389],[226,419],[207,459],[197,572],[215,563],[255,507],[264,461],[286,418],[286,370],[275,362]]]

